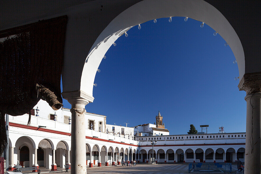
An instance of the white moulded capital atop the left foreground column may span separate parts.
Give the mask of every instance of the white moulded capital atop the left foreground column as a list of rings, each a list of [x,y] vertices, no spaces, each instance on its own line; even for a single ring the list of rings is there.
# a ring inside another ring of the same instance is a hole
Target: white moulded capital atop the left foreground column
[[[81,90],[62,92],[62,96],[72,105],[72,108],[85,108],[89,102],[94,100],[93,96]]]

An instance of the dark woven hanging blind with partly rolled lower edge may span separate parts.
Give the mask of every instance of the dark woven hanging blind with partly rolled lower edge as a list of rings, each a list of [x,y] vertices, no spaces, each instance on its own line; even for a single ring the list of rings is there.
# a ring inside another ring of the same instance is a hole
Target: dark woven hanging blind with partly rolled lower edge
[[[29,112],[40,99],[62,107],[61,73],[67,16],[0,31],[0,154],[7,146],[5,114]]]

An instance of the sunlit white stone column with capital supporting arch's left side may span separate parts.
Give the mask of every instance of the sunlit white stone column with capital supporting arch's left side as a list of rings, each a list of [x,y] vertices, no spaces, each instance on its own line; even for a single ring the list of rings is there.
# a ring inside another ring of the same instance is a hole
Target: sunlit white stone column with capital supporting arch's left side
[[[93,102],[93,96],[81,90],[62,92],[64,99],[72,105],[72,174],[86,173],[85,106]]]

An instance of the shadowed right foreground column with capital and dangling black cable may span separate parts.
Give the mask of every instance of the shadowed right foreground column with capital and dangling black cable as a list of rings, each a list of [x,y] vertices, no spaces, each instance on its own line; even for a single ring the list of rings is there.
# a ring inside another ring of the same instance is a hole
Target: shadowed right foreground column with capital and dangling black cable
[[[245,172],[261,170],[261,72],[246,73],[239,82],[239,90],[246,91],[246,156]]]

